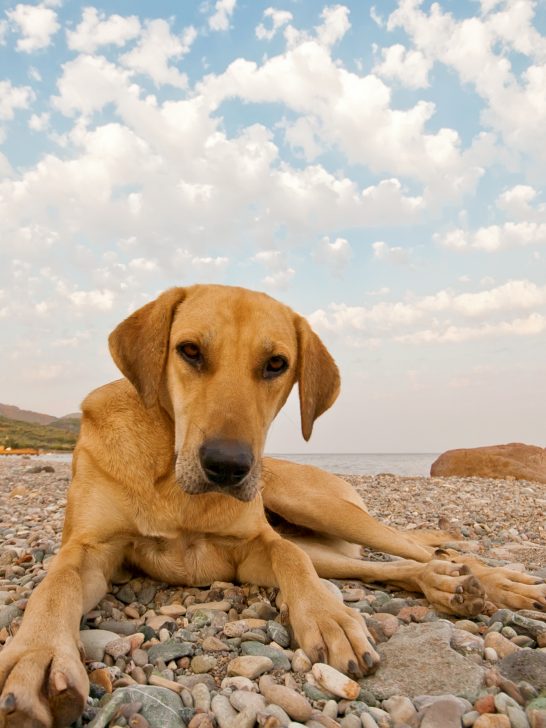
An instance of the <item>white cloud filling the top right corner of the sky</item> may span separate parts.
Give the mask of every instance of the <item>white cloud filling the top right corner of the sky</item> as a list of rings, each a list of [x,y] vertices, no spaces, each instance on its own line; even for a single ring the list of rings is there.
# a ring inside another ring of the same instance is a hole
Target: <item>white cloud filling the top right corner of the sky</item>
[[[489,3],[483,18],[457,20],[437,3],[427,12],[421,2],[401,0],[387,27],[403,28],[416,50],[471,84],[486,103],[482,121],[502,135],[509,149],[544,161],[546,38],[532,24],[535,6],[531,0],[501,8]],[[519,78],[507,57],[512,50],[530,61]]]

